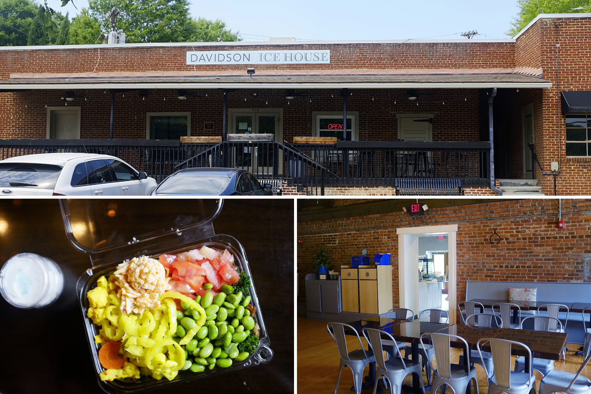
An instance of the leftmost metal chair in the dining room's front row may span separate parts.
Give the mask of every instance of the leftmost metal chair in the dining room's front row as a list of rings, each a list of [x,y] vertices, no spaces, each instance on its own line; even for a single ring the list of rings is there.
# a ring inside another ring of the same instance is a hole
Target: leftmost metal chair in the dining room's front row
[[[333,332],[330,331],[329,325],[332,326]],[[347,351],[347,341],[345,340],[345,327],[350,328],[357,335],[361,349]],[[375,362],[374,352],[371,350],[365,350],[361,343],[361,337],[355,328],[348,324],[332,322],[326,324],[326,329],[329,331],[330,336],[335,340],[337,348],[339,348],[340,365],[339,375],[336,378],[335,394],[339,388],[340,372],[343,367],[349,367],[353,372],[353,383],[355,385],[356,394],[361,394],[361,384],[363,383],[363,369],[369,363]]]

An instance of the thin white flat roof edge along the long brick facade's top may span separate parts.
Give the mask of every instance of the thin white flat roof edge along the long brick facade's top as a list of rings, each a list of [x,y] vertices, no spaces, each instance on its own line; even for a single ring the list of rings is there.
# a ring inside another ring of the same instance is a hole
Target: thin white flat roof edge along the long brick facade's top
[[[126,43],[126,44],[92,44],[92,45],[37,45],[37,46],[20,46],[20,47],[0,47],[0,51],[16,51],[16,50],[46,50],[46,49],[117,49],[117,48],[134,48],[134,47],[197,47],[197,46],[287,46],[287,45],[335,45],[335,44],[428,44],[428,43],[514,43],[514,38],[495,38],[495,39],[479,39],[472,38],[470,40],[454,39],[454,40],[313,40],[313,41],[222,41],[222,42],[203,42],[203,43]]]

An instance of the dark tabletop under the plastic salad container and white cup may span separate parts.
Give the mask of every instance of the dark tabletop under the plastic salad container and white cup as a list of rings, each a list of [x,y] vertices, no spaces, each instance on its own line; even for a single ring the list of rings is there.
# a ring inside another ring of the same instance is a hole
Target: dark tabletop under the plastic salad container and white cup
[[[178,208],[191,200],[150,202],[145,221],[166,217],[171,205]],[[134,200],[119,199],[118,204],[121,209]],[[47,308],[18,309],[0,297],[0,393],[103,393],[75,290],[90,260],[68,241],[58,201],[1,199],[0,222],[0,266],[14,254],[37,253],[56,261],[65,279],[60,298]],[[245,248],[274,359],[155,392],[193,393],[204,385],[220,393],[293,392],[293,200],[226,199],[213,224],[217,234],[232,235]],[[130,226],[137,227],[137,234],[146,232],[145,222]]]

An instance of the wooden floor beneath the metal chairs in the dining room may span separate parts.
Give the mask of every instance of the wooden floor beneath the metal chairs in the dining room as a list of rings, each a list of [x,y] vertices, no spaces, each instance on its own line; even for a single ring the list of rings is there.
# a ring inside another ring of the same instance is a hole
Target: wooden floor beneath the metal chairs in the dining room
[[[362,337],[362,343],[365,348],[365,338]],[[349,351],[360,348],[356,337],[347,335],[347,345]],[[583,356],[574,355],[578,350],[579,344],[569,344],[569,351],[566,352],[566,361],[560,360],[554,363],[554,368],[571,373],[576,373],[583,362]],[[461,351],[452,349],[452,362],[457,363]],[[336,377],[339,372],[339,352],[335,341],[326,331],[326,322],[317,320],[308,320],[303,317],[297,318],[297,389],[298,393],[332,393],[335,390]],[[369,367],[366,367],[364,376],[368,373]],[[478,387],[480,393],[488,393],[486,385],[486,374],[482,367],[476,365],[478,374]],[[541,375],[534,371],[539,385]],[[591,379],[591,363],[583,371],[583,376]],[[423,372],[423,381],[427,384],[426,375]],[[411,383],[409,374],[404,383]],[[348,367],[343,368],[340,375],[339,389],[337,393],[352,393],[350,388],[353,386],[353,374]],[[472,392],[475,393],[474,385]],[[536,387],[537,388],[537,387]],[[372,393],[371,389],[363,389],[362,393]],[[440,390],[437,390],[439,393]],[[452,390],[446,390],[452,393]],[[384,390],[384,393],[390,393],[390,390]]]

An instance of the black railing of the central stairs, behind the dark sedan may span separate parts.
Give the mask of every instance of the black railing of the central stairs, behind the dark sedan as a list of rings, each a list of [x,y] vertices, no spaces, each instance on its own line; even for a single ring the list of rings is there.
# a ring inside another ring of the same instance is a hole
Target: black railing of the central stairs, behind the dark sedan
[[[225,141],[175,166],[229,167],[248,170],[257,179],[281,179],[307,195],[324,195],[326,168],[310,157],[276,141]],[[337,179],[335,174],[329,175]]]

